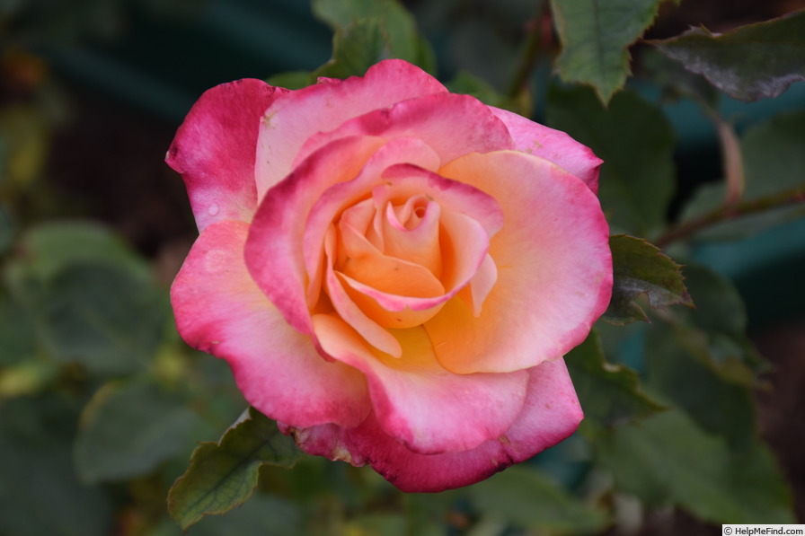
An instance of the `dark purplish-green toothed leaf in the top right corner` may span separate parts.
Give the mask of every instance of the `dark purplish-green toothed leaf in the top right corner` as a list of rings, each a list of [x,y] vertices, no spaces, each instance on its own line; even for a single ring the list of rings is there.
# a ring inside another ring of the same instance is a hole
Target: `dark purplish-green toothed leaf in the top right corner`
[[[776,97],[805,78],[805,11],[724,34],[694,28],[649,42],[742,101]]]

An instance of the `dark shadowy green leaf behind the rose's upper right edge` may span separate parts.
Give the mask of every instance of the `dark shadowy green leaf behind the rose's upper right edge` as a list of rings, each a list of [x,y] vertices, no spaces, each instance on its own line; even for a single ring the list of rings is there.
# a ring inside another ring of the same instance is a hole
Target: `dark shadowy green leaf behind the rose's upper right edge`
[[[674,131],[659,108],[624,91],[605,110],[588,88],[554,85],[547,120],[604,159],[598,198],[614,233],[650,236],[665,226],[675,188]]]

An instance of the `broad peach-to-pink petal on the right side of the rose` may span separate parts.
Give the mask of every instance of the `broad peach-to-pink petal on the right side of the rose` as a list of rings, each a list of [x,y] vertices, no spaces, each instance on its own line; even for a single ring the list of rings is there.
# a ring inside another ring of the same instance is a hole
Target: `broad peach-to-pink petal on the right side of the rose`
[[[529,154],[467,154],[441,174],[484,189],[506,215],[489,253],[498,278],[481,315],[451,300],[425,324],[456,373],[508,372],[577,346],[612,289],[608,226],[584,182]]]

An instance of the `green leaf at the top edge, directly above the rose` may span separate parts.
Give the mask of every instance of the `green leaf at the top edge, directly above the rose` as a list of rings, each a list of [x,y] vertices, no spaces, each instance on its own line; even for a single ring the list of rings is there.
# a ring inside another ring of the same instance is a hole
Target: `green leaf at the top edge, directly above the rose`
[[[416,22],[396,0],[314,0],[316,17],[335,31],[332,59],[317,76],[363,75],[381,59],[397,57],[432,72],[435,57]]]

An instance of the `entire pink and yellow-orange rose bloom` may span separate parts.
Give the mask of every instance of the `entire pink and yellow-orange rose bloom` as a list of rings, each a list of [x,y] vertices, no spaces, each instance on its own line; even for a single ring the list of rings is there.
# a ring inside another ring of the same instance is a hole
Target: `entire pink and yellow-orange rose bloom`
[[[167,162],[199,239],[178,329],[305,452],[406,491],[485,479],[582,412],[562,356],[612,289],[601,161],[418,67],[205,92]]]

